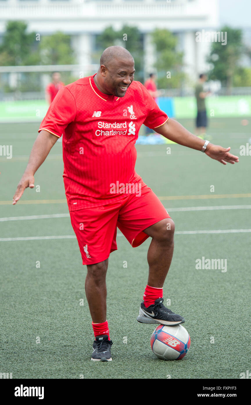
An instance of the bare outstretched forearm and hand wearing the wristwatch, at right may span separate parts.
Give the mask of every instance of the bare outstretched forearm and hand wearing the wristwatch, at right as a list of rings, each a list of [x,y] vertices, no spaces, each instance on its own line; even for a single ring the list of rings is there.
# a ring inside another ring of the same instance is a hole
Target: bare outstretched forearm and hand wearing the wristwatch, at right
[[[205,141],[200,139],[198,136],[191,134],[186,128],[179,124],[174,119],[169,118],[165,124],[161,125],[158,128],[155,128],[155,131],[159,134],[165,136],[165,138],[170,139],[180,145],[187,146],[192,149],[201,150]],[[238,156],[234,156],[229,153],[230,147],[223,148],[219,145],[213,145],[209,143],[205,150],[205,153],[209,158],[218,160],[222,164],[231,163],[234,164],[238,162]]]

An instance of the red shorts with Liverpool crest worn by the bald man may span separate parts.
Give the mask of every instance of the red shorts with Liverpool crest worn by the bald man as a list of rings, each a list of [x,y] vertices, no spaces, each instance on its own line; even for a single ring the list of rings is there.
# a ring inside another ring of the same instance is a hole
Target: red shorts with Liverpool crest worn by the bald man
[[[117,227],[132,247],[141,245],[148,237],[144,229],[170,218],[159,198],[149,187],[141,196],[127,194],[114,203],[70,211],[83,264],[106,260],[117,250]]]

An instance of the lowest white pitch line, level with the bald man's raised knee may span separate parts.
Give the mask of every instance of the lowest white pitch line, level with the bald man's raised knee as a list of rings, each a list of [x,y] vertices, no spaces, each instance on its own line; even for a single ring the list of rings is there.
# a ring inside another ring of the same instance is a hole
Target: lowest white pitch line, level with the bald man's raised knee
[[[217,230],[185,230],[177,231],[176,235],[195,235],[195,234],[220,234],[220,233],[249,233],[251,229],[217,229]],[[122,233],[117,234],[122,236]],[[45,239],[75,239],[75,235],[65,236],[28,236],[18,238],[0,238],[0,242],[13,242],[13,241],[41,241]]]

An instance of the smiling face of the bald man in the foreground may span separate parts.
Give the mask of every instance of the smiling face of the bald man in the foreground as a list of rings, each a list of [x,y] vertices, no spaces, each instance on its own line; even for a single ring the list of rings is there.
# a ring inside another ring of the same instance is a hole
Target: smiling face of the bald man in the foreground
[[[134,60],[132,58],[125,60],[114,60],[109,64],[100,66],[102,75],[102,87],[106,94],[113,94],[116,97],[123,97],[134,81]]]

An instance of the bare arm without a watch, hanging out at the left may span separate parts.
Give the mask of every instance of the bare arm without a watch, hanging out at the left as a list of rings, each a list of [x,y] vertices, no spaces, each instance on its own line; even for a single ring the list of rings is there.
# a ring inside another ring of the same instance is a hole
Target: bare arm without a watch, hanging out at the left
[[[34,145],[31,149],[29,156],[29,162],[23,173],[21,180],[18,183],[17,190],[13,197],[13,205],[17,204],[17,201],[22,196],[25,188],[34,187],[34,174],[46,159],[50,149],[57,141],[57,136],[52,135],[46,130],[40,131]]]

